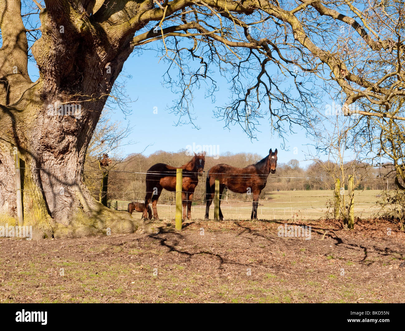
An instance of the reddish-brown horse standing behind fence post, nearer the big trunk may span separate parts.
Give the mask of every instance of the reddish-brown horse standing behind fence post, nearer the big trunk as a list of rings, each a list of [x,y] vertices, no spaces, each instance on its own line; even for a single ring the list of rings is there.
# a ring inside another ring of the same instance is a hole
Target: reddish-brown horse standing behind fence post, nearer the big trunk
[[[198,184],[198,176],[203,176],[205,164],[205,152],[202,155],[194,153],[194,157],[185,165],[179,168],[183,169],[183,187],[182,187],[182,204],[183,204],[183,219],[186,216],[187,206],[187,218],[191,219],[191,203],[193,200],[194,190]],[[158,220],[158,211],[156,210],[156,204],[162,189],[167,191],[176,191],[176,167],[167,165],[164,163],[156,163],[152,165],[146,174],[146,196],[145,207],[149,206],[149,202],[152,200],[153,218]],[[143,219],[146,219],[146,209],[143,211]]]

